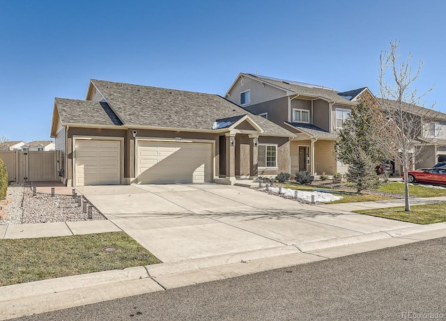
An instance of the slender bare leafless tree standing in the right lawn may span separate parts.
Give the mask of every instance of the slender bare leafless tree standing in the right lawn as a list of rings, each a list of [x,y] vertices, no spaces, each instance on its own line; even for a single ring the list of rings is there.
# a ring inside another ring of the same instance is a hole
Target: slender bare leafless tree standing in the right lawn
[[[410,54],[406,61],[399,63],[398,45],[397,41],[390,42],[390,51],[383,52],[380,56],[382,126],[378,136],[383,151],[403,168],[405,210],[410,211],[408,171],[410,164],[415,163],[415,159],[426,145],[423,137],[426,136],[426,125],[431,122],[433,105],[424,108],[422,98],[432,88],[422,94],[418,94],[417,89],[413,88],[420,76],[423,63],[422,61],[418,63],[415,72],[410,67]],[[386,79],[390,79],[390,82]]]

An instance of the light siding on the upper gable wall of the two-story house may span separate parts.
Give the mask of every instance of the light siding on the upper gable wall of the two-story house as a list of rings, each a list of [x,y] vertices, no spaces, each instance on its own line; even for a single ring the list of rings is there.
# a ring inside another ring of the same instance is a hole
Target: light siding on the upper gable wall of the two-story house
[[[248,77],[243,77],[243,86],[242,81],[239,78],[236,84],[234,84],[231,92],[229,93],[228,99],[235,104],[240,104],[240,93],[247,90],[251,91],[250,104],[259,104],[260,102],[274,100],[286,95],[286,91],[282,91],[279,88],[275,88],[268,84],[262,86],[260,81],[256,81]],[[247,106],[249,106],[249,104],[243,105],[243,107]]]

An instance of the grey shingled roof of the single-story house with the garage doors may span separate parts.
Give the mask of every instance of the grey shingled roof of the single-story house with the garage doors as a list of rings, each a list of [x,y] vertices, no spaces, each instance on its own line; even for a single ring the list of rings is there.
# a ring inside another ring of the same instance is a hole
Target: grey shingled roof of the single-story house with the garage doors
[[[259,124],[263,135],[293,136],[279,125],[256,116],[219,95],[96,79],[91,79],[91,84],[105,97],[123,125],[128,127],[212,130],[217,119],[249,114]],[[101,112],[99,102],[75,101],[75,104],[82,109],[83,121],[86,123],[112,124],[105,112]],[[64,111],[68,113],[68,108]]]

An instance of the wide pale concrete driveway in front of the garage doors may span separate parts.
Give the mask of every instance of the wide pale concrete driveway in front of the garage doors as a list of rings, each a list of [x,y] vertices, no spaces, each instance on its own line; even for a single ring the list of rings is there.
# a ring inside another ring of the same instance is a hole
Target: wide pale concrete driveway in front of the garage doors
[[[228,185],[77,189],[164,263],[279,256],[348,244],[352,238],[377,240],[389,237],[384,231],[416,225],[341,210],[327,212],[317,205]]]

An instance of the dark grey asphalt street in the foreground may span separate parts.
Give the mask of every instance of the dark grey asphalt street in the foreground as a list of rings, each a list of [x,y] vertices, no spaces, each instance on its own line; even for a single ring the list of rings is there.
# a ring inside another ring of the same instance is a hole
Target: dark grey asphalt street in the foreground
[[[31,320],[446,320],[446,237]]]

